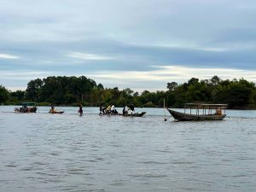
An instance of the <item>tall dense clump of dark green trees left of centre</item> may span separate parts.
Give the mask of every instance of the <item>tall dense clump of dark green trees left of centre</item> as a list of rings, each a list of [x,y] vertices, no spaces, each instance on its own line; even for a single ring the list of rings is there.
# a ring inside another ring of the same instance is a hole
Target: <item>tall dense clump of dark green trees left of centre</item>
[[[55,104],[70,104],[84,102],[96,88],[96,82],[84,76],[48,77],[31,80],[27,84],[26,99],[34,102],[54,102]]]

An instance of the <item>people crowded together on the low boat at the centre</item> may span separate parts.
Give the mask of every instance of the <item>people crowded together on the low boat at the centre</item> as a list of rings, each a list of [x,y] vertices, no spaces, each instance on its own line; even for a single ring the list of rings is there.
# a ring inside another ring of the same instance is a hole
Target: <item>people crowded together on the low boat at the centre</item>
[[[125,105],[123,108],[123,115],[127,115],[128,113],[134,113],[134,105]],[[114,108],[114,105],[108,105],[108,107],[103,107],[103,105],[100,105],[100,115],[102,114],[119,114],[118,111]]]

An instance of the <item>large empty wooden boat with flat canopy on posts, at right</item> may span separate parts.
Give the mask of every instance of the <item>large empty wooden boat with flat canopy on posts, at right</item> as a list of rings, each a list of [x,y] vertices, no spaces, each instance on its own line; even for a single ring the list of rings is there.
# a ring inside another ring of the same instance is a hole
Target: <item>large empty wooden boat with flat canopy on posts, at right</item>
[[[167,110],[178,121],[203,121],[224,119],[226,117],[225,109],[227,107],[227,104],[185,103],[183,113],[169,108]],[[190,109],[190,113],[186,113],[187,108]],[[195,113],[192,113],[192,109],[195,109]],[[214,113],[212,113],[212,110]]]

